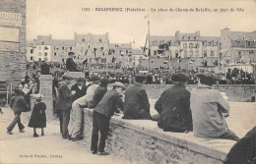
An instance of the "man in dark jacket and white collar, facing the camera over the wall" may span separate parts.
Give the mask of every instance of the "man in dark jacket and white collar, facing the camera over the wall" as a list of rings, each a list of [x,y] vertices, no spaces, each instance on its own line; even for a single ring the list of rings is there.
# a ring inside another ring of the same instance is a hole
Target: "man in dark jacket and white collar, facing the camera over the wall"
[[[75,90],[76,91],[76,94],[73,95],[73,100],[74,101],[76,99],[86,95],[86,93],[87,93],[87,86],[86,86],[85,82],[86,82],[86,79],[79,78],[79,79],[77,79],[77,83],[75,83],[71,87],[71,90]]]

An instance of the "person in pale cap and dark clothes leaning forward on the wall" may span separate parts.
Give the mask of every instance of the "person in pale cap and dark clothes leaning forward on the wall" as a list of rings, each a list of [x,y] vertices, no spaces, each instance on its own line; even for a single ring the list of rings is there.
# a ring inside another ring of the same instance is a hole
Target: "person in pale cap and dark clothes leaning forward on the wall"
[[[114,112],[118,112],[120,109],[123,111],[123,101],[121,95],[125,86],[122,82],[115,82],[112,84],[113,88],[107,91],[100,102],[96,105],[93,116],[93,135],[91,150],[93,154],[108,155],[108,152],[104,151],[105,139],[109,130],[109,120],[114,115]],[[99,144],[98,131],[100,132]]]

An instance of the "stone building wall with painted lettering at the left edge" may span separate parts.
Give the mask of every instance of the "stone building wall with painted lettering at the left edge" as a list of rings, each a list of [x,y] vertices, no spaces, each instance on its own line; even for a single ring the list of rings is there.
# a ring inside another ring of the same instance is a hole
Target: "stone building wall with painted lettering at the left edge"
[[[26,0],[0,1],[0,77],[14,81],[26,72]]]

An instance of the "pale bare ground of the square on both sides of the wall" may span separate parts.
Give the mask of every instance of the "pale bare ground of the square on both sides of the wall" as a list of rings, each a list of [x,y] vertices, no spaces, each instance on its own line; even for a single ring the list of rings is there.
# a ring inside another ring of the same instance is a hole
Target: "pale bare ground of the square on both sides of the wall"
[[[154,109],[156,99],[151,99],[151,113],[157,114]],[[44,137],[32,137],[32,128],[28,127],[31,112],[22,114],[22,123],[26,126],[26,133],[19,133],[15,127],[13,136],[6,134],[6,128],[14,118],[10,108],[3,108],[4,115],[0,114],[0,163],[129,163],[122,159],[109,156],[98,156],[91,153],[83,140],[63,140],[59,134],[57,120],[47,121]],[[230,116],[226,119],[230,130],[238,137],[243,137],[256,126],[256,103],[230,102]],[[40,135],[40,129],[37,129]]]

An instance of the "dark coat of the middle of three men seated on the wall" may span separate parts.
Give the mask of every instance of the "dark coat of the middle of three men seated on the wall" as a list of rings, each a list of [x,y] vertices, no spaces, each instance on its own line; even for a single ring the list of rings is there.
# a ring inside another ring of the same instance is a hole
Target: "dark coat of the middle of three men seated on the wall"
[[[180,84],[163,91],[155,104],[160,113],[159,127],[164,132],[180,132],[192,130],[190,110],[190,92]]]

